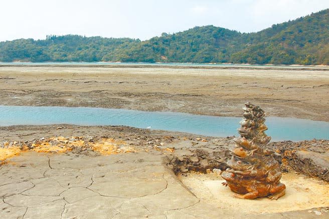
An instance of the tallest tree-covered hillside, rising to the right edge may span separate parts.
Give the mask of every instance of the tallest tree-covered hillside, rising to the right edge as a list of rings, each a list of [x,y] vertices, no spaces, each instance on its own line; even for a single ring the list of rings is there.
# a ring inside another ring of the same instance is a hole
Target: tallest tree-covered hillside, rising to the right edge
[[[329,9],[244,34],[233,63],[329,65]]]

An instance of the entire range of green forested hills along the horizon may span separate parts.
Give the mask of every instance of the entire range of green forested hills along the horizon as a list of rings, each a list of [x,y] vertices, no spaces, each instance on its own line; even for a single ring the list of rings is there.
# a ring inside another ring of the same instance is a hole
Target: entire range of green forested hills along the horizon
[[[199,62],[329,65],[329,9],[241,34],[214,26],[129,38],[47,36],[0,42],[0,61]]]

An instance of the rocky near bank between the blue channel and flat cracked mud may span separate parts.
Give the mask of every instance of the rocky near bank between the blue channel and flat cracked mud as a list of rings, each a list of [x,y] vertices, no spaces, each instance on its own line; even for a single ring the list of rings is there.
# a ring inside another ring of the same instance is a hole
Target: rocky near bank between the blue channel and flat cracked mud
[[[61,143],[53,145],[53,140],[47,140],[58,137],[68,141],[80,139],[83,140],[84,144],[71,145],[70,142],[61,141]],[[88,142],[94,144],[101,139],[112,139],[114,142],[125,142],[124,145],[114,143],[117,144],[118,149],[123,146],[122,153],[125,153],[125,149],[130,148],[131,152],[135,153],[147,152],[161,156],[166,154],[167,158],[164,157],[164,163],[169,165],[176,174],[184,174],[189,171],[206,173],[207,169],[225,170],[227,168],[226,159],[230,154],[230,149],[235,145],[234,137],[211,137],[128,126],[68,124],[0,126],[0,139],[3,139],[0,141],[0,166],[1,162],[6,162],[11,158],[11,152],[13,152],[13,156],[17,156],[35,150],[39,147],[36,145],[40,145],[37,152],[55,154],[73,152],[77,155],[99,156],[102,153],[99,150],[94,150],[92,146],[88,145],[90,144]],[[101,143],[105,149],[106,145],[111,144],[104,145]],[[282,162],[282,171],[297,171],[329,182],[329,171],[326,171],[328,163],[325,161],[325,157],[329,155],[328,145],[329,139],[313,139],[297,142],[289,140],[271,141],[267,147],[276,152],[275,158],[279,163]],[[3,153],[1,153],[2,148],[5,149]],[[11,149],[15,150],[11,151]],[[111,151],[108,152],[105,155],[111,154]],[[7,158],[6,153],[8,153]]]

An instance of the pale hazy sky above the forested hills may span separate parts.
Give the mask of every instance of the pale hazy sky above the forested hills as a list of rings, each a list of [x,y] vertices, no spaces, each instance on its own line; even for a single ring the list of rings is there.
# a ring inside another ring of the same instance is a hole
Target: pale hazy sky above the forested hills
[[[329,8],[329,0],[1,0],[0,41],[78,34],[140,40],[214,25],[257,32]]]

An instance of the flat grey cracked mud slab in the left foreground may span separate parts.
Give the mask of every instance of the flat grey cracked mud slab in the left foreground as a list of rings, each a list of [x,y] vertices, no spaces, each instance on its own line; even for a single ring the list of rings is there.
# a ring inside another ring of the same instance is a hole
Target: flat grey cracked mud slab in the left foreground
[[[0,217],[164,218],[199,202],[162,165],[161,156],[147,155],[71,159],[77,155],[27,152],[14,157],[1,169]]]

